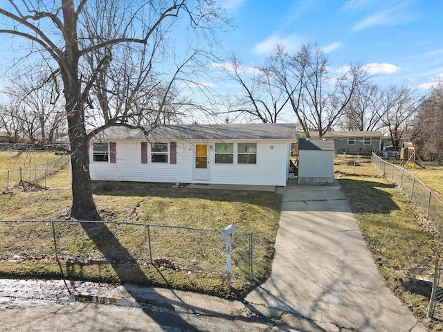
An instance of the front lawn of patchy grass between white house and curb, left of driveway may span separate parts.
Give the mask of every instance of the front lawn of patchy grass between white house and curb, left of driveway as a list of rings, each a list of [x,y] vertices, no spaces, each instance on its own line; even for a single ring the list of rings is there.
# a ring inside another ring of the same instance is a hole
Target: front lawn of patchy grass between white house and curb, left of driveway
[[[55,183],[58,187],[60,179]],[[233,287],[229,289],[225,241],[219,232],[182,229],[221,231],[231,223],[236,232],[253,232],[255,283],[271,273],[281,195],[114,182],[93,183],[93,193],[103,221],[125,223],[97,228],[73,223],[68,189],[13,190],[0,195],[1,220],[65,220],[55,223],[60,265],[50,222],[0,223],[0,273],[147,284],[241,298],[253,286],[248,235],[233,238]],[[177,228],[150,226],[148,230],[134,223]]]

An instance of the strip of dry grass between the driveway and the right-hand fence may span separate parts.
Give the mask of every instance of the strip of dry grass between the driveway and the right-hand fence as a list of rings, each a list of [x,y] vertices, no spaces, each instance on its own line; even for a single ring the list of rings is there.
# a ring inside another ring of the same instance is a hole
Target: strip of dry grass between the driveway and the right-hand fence
[[[430,280],[435,258],[441,255],[440,236],[395,185],[378,176],[374,166],[360,163],[356,176],[349,175],[353,169],[348,167],[338,158],[336,176],[381,276],[428,329],[442,331],[438,317],[426,318],[431,283],[422,280]]]

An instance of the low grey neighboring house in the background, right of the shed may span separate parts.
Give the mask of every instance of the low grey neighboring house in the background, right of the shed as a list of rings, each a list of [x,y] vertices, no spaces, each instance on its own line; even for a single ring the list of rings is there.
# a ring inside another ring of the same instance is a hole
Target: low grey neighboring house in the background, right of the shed
[[[318,138],[318,131],[309,132],[311,138]],[[380,151],[383,133],[381,131],[328,131],[322,138],[333,138],[335,149],[348,154]]]

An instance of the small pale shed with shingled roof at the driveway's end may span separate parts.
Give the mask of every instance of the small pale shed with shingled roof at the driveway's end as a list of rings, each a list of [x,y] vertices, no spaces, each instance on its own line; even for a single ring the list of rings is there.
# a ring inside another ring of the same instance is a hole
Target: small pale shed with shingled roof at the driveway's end
[[[334,182],[334,140],[300,138],[298,140],[298,183]]]

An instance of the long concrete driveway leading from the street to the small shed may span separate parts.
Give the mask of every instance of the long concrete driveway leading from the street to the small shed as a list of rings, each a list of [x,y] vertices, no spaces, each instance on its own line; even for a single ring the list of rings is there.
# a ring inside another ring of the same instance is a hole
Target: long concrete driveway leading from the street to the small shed
[[[338,183],[289,181],[271,277],[246,301],[265,315],[285,311],[325,331],[426,331],[383,283]]]

